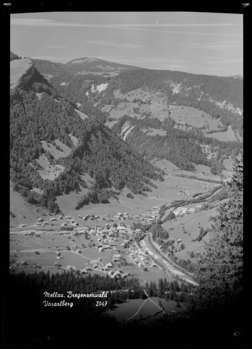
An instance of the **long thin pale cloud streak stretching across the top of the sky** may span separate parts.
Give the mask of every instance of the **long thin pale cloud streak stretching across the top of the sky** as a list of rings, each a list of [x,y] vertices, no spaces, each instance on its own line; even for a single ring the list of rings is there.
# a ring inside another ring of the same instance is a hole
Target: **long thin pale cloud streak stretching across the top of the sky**
[[[138,23],[124,23],[124,24],[89,24],[89,23],[71,23],[71,22],[57,22],[49,19],[37,18],[11,18],[11,25],[13,26],[29,26],[29,27],[83,27],[83,28],[102,28],[102,29],[121,29],[121,30],[141,30],[151,31],[156,33],[174,33],[174,34],[190,34],[190,35],[227,35],[227,36],[242,36],[239,34],[230,33],[202,33],[202,32],[188,32],[188,31],[167,31],[160,30],[160,28],[179,28],[179,27],[230,27],[241,26],[237,23],[161,23],[161,24],[138,24]],[[151,28],[151,29],[148,29]],[[156,29],[156,30],[154,30]]]

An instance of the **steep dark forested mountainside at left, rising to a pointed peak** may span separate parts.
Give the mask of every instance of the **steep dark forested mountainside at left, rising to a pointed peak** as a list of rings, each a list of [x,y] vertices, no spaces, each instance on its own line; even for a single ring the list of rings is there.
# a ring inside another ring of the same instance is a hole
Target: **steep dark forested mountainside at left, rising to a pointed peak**
[[[22,59],[19,61],[22,63]],[[14,190],[28,202],[50,211],[59,211],[55,195],[87,187],[82,178],[84,173],[94,179],[89,198],[96,202],[105,202],[110,194],[114,195],[111,190],[106,191],[111,185],[117,190],[127,186],[135,193],[144,193],[153,185],[151,179],[162,180],[160,172],[100,122],[99,115],[92,115],[91,110],[88,118],[80,118],[74,106],[34,67],[20,77],[13,91],[10,125]],[[45,151],[44,144],[59,151],[67,146],[70,154],[63,157],[62,152],[62,157],[55,159]],[[50,166],[58,164],[64,169],[55,174],[55,179],[44,179],[38,172],[42,156]]]

